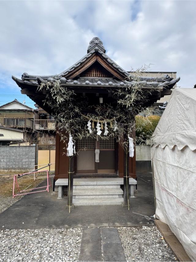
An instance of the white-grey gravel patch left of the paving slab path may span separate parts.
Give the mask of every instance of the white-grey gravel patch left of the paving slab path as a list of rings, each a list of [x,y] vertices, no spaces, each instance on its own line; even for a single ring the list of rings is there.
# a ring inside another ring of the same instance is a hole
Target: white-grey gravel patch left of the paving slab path
[[[0,261],[78,261],[82,228],[0,231]]]

